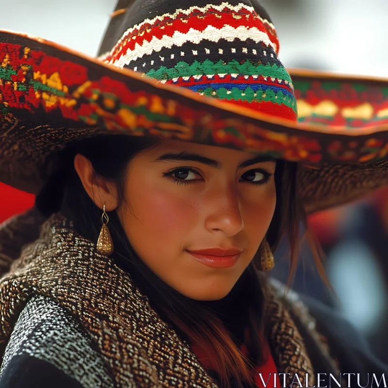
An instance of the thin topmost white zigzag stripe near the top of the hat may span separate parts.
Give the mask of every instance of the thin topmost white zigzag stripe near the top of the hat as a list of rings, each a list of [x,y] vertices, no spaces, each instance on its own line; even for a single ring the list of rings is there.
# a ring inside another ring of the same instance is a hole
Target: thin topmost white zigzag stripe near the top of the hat
[[[224,8],[228,8],[231,11],[239,12],[241,9],[246,9],[247,11],[256,14],[255,8],[239,3],[238,5],[231,5],[228,2],[222,2],[220,5],[213,5],[208,4],[205,7],[197,7],[193,6],[188,9],[177,9],[173,14],[163,14],[162,16],[155,16],[153,19],[145,19],[141,23],[134,25],[133,27],[129,28],[126,32],[124,32],[123,36],[120,38],[120,40],[114,45],[113,49],[110,52],[106,52],[102,54],[99,59],[103,60],[108,55],[113,54],[114,51],[117,51],[118,47],[121,45],[121,43],[124,42],[125,38],[130,35],[134,30],[140,29],[144,24],[155,24],[158,20],[162,21],[165,17],[170,17],[171,19],[176,19],[179,14],[184,15],[190,15],[194,10],[198,10],[200,12],[207,12],[210,8],[213,8],[219,12],[221,12]],[[259,15],[256,14],[256,16],[261,20],[263,23],[267,23],[273,30],[275,30],[275,26],[267,19],[263,19]]]

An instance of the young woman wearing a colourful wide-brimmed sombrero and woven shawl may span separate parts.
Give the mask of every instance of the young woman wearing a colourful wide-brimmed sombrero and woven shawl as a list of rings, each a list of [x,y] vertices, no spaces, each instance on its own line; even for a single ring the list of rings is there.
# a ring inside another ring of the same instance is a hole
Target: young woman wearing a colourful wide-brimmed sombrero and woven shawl
[[[388,183],[386,81],[330,101],[333,79],[295,73],[299,124],[256,1],[120,7],[99,60],[0,33],[1,178],[37,194],[0,230],[1,387],[380,380],[345,320],[265,272],[283,236],[295,269],[306,211]]]

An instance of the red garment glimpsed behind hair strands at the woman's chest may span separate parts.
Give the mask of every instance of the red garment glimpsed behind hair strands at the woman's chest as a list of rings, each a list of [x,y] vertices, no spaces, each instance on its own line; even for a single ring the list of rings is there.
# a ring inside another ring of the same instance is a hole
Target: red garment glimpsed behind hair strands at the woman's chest
[[[247,340],[247,338],[248,338],[248,329],[246,329],[245,331],[245,341]],[[213,363],[212,363],[212,357],[210,357],[198,344],[192,343],[191,349],[194,352],[195,356],[197,356],[198,359],[201,361],[205,369],[207,370],[214,369]],[[247,349],[246,349],[245,343],[241,345],[240,351],[244,356],[247,355]],[[264,341],[263,352],[264,352],[264,359],[267,359],[267,361],[265,364],[258,365],[256,368],[257,374],[256,374],[255,381],[256,381],[257,387],[259,388],[281,387],[279,376],[277,374],[275,361],[271,354],[270,346],[267,339],[265,339]],[[259,373],[261,373],[264,384],[260,379]]]

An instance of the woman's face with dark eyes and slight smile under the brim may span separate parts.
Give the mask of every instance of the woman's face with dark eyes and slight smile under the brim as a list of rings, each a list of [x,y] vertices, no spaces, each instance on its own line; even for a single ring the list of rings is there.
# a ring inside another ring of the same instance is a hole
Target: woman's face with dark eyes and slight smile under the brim
[[[226,296],[267,232],[276,203],[275,161],[239,168],[253,158],[168,140],[129,162],[126,201],[117,209],[129,242],[151,271],[189,298]],[[188,252],[206,248],[241,253],[222,259],[222,252],[205,258]]]

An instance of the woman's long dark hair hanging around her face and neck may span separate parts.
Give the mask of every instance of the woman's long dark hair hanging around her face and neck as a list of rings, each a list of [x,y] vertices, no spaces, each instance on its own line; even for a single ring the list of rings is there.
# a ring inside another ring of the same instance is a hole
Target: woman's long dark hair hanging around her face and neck
[[[63,163],[49,183],[36,197],[36,206],[49,216],[61,210],[74,222],[75,229],[86,239],[97,242],[101,229],[101,210],[85,192],[74,168],[74,157],[81,153],[92,162],[96,177],[117,184],[119,203],[123,197],[128,163],[140,151],[159,144],[160,140],[125,135],[99,136],[69,146],[61,156]],[[306,224],[306,215],[297,197],[297,164],[278,160],[275,169],[276,207],[267,232],[267,241],[274,250],[285,235],[291,246],[291,276],[298,259],[299,225]],[[151,306],[169,322],[184,339],[195,341],[207,354],[213,355],[215,372],[222,387],[235,380],[240,386],[256,387],[255,364],[264,362],[262,336],[267,330],[264,319],[265,277],[251,263],[244,276],[249,281],[248,304],[250,338],[247,345],[249,358],[242,355],[226,330],[220,317],[211,309],[187,298],[156,276],[136,255],[115,211],[109,212],[114,262],[131,274],[131,278]],[[320,259],[320,258],[318,258]],[[318,268],[322,268],[318,265]],[[320,270],[321,273],[321,270]],[[322,274],[321,274],[322,275]],[[324,274],[323,274],[324,277]],[[253,306],[254,304],[254,306]]]

